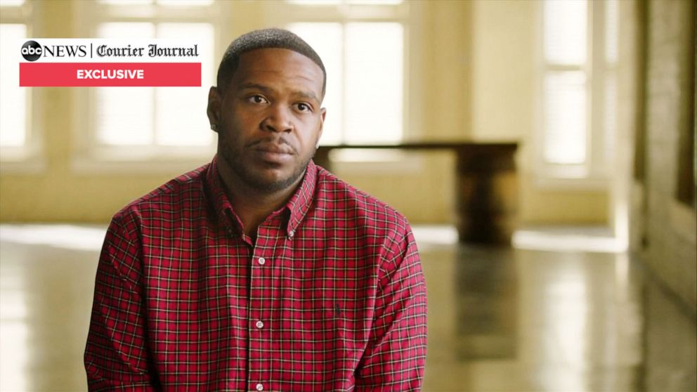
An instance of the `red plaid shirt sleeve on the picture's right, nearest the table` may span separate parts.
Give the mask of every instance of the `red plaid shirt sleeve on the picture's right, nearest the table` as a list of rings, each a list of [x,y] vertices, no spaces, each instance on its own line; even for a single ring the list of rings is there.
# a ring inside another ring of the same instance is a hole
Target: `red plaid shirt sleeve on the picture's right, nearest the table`
[[[356,391],[420,391],[426,361],[426,282],[407,226],[383,263],[370,339]]]

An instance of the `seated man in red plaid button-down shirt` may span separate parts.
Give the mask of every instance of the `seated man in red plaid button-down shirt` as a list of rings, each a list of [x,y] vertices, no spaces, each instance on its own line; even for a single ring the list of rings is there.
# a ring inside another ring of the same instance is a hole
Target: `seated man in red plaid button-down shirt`
[[[112,219],[91,390],[421,388],[417,247],[403,216],[312,162],[325,81],[291,32],[230,44],[209,93],[216,157]]]

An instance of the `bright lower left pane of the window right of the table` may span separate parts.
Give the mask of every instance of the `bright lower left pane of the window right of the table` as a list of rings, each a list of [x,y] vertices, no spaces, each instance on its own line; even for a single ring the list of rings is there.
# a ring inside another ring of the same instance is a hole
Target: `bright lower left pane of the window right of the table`
[[[582,164],[586,158],[586,78],[583,72],[545,76],[545,160]]]

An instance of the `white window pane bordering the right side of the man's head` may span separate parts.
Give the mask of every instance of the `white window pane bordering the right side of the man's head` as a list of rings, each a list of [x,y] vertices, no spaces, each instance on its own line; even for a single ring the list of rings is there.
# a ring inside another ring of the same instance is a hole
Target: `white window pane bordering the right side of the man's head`
[[[288,29],[307,41],[320,55],[327,70],[327,92],[322,103],[327,117],[322,132],[323,145],[341,143],[343,107],[341,81],[344,77],[341,53],[342,31],[339,23],[293,23]]]

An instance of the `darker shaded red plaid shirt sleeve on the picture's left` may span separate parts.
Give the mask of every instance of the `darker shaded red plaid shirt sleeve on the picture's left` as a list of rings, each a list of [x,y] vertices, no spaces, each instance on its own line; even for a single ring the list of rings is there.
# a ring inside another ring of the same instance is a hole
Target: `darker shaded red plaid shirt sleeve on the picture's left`
[[[104,240],[84,362],[90,391],[155,391],[148,374],[138,227],[115,217]]]

